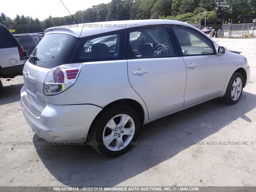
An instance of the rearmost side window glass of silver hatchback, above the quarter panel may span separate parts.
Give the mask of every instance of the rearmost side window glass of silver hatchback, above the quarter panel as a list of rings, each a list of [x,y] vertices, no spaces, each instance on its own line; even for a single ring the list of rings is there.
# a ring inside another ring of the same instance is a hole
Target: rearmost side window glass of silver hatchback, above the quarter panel
[[[80,38],[72,63],[125,59],[125,39],[121,31]]]

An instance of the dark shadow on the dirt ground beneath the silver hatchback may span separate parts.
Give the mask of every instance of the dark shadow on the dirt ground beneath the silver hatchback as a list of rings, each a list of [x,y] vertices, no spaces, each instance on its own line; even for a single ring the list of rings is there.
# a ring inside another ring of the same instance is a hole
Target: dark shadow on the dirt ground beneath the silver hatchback
[[[238,118],[252,123],[246,113],[256,107],[256,95],[244,92],[236,105],[219,99],[142,126],[138,142],[126,154],[108,158],[90,146],[43,145],[34,135],[38,155],[49,172],[67,186],[115,186],[174,157],[193,143],[218,132]],[[175,165],[169,165],[175,166]]]

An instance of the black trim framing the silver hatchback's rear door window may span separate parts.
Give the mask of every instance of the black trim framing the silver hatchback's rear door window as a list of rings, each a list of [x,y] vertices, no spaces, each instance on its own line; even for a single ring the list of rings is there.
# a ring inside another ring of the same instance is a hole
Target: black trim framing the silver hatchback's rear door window
[[[173,35],[170,34],[169,30],[168,30],[168,27],[166,26],[169,26],[170,24],[155,24],[155,25],[146,25],[146,26],[139,26],[139,27],[133,27],[133,28],[128,28],[127,30],[127,35],[126,35],[126,59],[127,60],[133,60],[133,59],[147,59],[147,58],[174,58],[174,57],[180,57],[180,53],[177,49],[177,46],[176,46],[176,42],[174,41],[174,38],[173,38]],[[140,29],[145,29],[145,28],[156,28],[156,26],[158,26],[158,28],[165,28],[166,32],[167,32],[167,38],[169,38],[170,42],[172,43],[173,45],[173,48],[174,48],[174,52],[175,52],[175,55],[174,56],[158,56],[158,57],[142,57],[142,58],[128,58],[128,53],[127,53],[127,46],[130,42],[130,32],[131,31],[134,31],[134,30],[140,30]]]

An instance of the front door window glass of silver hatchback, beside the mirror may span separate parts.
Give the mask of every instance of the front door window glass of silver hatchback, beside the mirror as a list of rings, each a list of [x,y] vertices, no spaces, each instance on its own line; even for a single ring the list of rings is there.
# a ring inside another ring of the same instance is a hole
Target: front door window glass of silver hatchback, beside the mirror
[[[215,54],[213,44],[198,32],[185,28],[173,27],[184,55]]]

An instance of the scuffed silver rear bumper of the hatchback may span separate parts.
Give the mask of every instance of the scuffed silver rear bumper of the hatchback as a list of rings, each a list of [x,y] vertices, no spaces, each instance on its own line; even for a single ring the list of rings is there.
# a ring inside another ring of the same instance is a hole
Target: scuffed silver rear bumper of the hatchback
[[[47,104],[40,115],[35,116],[28,101],[24,102],[24,95],[25,87],[21,90],[20,105],[26,121],[38,136],[50,142],[84,142],[92,121],[102,110],[90,104]]]

